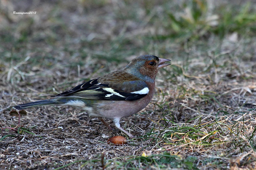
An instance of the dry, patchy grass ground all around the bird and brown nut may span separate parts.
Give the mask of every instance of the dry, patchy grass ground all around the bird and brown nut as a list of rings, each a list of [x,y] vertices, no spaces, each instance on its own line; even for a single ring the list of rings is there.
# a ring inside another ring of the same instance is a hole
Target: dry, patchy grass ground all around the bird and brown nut
[[[27,4],[0,2],[0,169],[256,168],[255,3]],[[125,134],[71,107],[27,109],[20,126],[9,115],[143,54],[172,65],[148,107],[121,122],[136,135],[126,145],[106,144]]]

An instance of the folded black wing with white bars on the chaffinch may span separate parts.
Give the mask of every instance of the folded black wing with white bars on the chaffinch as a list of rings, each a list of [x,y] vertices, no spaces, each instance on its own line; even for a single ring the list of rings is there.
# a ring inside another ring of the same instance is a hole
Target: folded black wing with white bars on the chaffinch
[[[52,97],[133,101],[145,97],[148,92],[148,85],[141,80],[118,81],[113,84],[113,81],[101,82],[100,78],[96,78]]]

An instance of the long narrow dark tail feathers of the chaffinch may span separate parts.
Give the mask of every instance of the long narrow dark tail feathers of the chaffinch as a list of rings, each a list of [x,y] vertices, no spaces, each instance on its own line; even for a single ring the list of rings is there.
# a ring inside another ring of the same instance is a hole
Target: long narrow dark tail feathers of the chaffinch
[[[55,98],[55,99],[47,99],[47,100],[40,100],[40,101],[25,103],[25,104],[14,106],[12,108],[21,110],[21,109],[27,109],[30,107],[37,107],[37,106],[44,106],[44,105],[55,105],[55,104],[63,104],[63,103],[65,103],[65,102],[61,102],[60,100],[56,100],[56,98]]]

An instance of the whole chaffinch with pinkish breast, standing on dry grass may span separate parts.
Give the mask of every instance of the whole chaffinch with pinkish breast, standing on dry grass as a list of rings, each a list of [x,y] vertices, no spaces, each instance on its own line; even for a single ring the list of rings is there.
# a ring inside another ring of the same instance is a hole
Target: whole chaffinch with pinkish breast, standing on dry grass
[[[76,87],[57,94],[53,99],[20,104],[12,108],[17,110],[45,105],[72,106],[86,111],[98,119],[110,130],[103,118],[113,119],[116,128],[129,137],[131,133],[120,126],[120,119],[135,114],[145,108],[155,92],[156,74],[171,60],[155,55],[141,55],[134,58],[122,70],[116,70],[95,78]]]

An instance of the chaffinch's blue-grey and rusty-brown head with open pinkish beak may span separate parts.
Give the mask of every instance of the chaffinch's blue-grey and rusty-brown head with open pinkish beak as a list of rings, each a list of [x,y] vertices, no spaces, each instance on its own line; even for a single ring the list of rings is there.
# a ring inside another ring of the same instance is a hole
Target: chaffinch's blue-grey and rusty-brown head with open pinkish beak
[[[171,61],[164,58],[158,58],[155,55],[141,55],[134,58],[124,70],[135,75],[138,78],[144,79],[148,82],[152,82],[156,78],[156,74],[160,68],[166,67],[171,63],[165,63]]]

